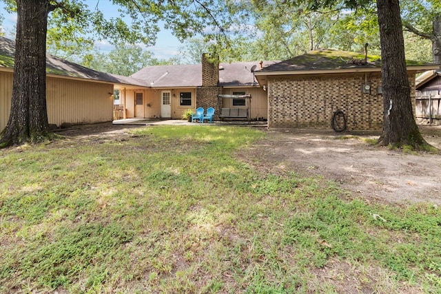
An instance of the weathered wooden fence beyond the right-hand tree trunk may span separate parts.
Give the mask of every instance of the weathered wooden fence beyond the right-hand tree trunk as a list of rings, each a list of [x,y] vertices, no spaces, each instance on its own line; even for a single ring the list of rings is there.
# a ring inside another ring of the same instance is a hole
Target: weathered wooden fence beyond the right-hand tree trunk
[[[428,123],[441,125],[441,96],[422,95],[416,97],[415,116]]]

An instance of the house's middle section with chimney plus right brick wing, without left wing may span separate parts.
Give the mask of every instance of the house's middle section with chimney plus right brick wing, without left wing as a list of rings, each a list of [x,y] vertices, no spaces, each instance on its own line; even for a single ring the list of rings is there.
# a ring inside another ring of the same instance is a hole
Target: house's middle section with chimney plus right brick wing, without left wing
[[[411,98],[416,73],[438,65],[407,61]],[[337,111],[351,130],[380,130],[383,122],[380,56],[314,50],[286,61],[145,67],[131,76],[148,90],[125,91],[127,118],[180,118],[185,109],[251,109],[268,127],[330,128]],[[249,100],[221,98],[250,94]],[[247,105],[252,103],[252,105]]]

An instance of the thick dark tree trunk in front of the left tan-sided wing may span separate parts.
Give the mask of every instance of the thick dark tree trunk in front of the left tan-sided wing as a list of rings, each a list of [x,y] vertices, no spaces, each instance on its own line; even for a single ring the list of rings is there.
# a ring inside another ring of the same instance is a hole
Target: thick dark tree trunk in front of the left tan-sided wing
[[[0,147],[37,143],[49,135],[46,109],[48,0],[17,0],[12,101]]]

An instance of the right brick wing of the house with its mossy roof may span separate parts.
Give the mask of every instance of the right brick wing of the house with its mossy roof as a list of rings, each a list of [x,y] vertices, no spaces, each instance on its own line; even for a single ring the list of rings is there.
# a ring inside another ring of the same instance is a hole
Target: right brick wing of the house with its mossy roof
[[[417,72],[438,65],[407,61],[411,98]],[[383,98],[380,56],[314,50],[255,72],[267,88],[268,127],[330,128],[345,114],[347,129],[380,130]]]

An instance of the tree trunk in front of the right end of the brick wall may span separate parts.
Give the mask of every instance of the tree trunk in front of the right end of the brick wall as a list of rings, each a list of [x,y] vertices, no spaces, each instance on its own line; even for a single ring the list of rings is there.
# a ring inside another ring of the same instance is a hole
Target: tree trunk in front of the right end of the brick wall
[[[384,104],[383,131],[380,145],[420,149],[422,138],[411,103],[411,88],[404,58],[404,38],[398,0],[377,0],[380,27],[381,74]]]

